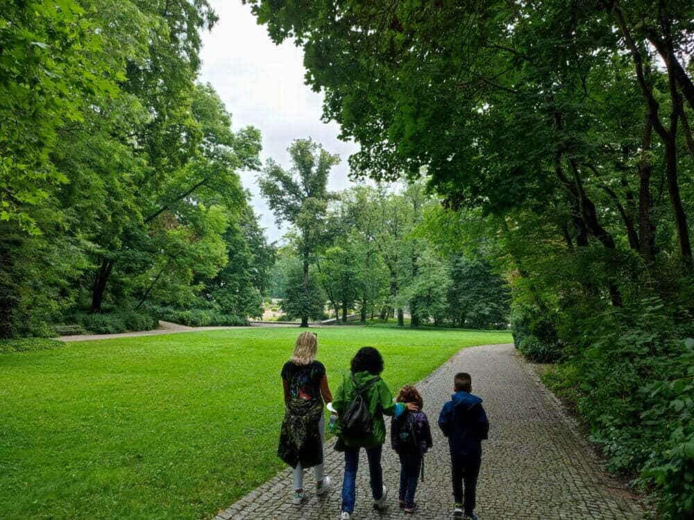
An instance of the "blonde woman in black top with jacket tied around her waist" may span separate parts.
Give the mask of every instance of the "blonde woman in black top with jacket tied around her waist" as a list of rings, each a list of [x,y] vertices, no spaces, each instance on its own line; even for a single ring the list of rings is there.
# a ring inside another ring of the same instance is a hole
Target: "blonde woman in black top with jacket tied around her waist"
[[[316,361],[316,352],[318,336],[312,332],[299,334],[294,354],[282,367],[281,373],[286,408],[278,456],[294,468],[292,501],[296,505],[307,500],[303,490],[304,469],[314,469],[316,495],[324,496],[330,487],[330,477],[323,476],[323,402],[331,403],[332,395],[325,367]]]

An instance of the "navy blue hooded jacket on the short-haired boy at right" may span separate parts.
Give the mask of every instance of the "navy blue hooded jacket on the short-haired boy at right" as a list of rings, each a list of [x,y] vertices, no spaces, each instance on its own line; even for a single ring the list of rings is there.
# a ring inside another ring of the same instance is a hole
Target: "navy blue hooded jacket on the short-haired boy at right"
[[[459,456],[478,456],[482,440],[489,434],[482,399],[468,392],[455,392],[443,405],[439,428],[448,437],[450,453]]]

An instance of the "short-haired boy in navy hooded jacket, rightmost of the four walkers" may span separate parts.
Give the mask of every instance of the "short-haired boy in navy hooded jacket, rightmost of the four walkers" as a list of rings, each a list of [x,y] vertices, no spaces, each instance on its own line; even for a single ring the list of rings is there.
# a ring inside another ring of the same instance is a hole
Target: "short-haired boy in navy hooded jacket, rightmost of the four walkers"
[[[453,480],[453,518],[477,520],[475,491],[482,464],[482,440],[489,433],[482,399],[473,395],[470,374],[459,372],[453,381],[454,394],[443,405],[439,427],[448,437]],[[463,484],[465,485],[463,489]]]

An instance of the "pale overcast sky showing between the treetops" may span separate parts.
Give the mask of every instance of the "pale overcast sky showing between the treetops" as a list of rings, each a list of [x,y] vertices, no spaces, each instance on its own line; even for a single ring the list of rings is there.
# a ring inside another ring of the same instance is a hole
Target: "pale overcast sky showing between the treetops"
[[[357,150],[337,139],[339,125],[321,121],[323,96],[304,85],[303,51],[292,42],[273,44],[264,27],[255,23],[251,8],[241,0],[211,0],[219,22],[203,34],[201,81],[212,86],[232,114],[236,130],[253,125],[262,133],[262,159],[272,157],[289,167],[287,146],[293,139],[312,137],[330,153],[342,158],[332,170],[328,187],[340,190],[350,184],[347,158]],[[242,174],[253,193],[253,207],[271,241],[280,239],[272,211],[265,205],[255,182],[255,172]]]

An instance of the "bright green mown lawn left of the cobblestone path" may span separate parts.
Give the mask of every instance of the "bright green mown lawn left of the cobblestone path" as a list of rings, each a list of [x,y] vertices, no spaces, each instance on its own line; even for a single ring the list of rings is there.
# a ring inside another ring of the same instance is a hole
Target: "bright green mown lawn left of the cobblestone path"
[[[316,329],[332,388],[378,347],[395,391],[504,332]],[[299,330],[234,329],[0,355],[0,518],[209,518],[282,467],[279,372]]]

